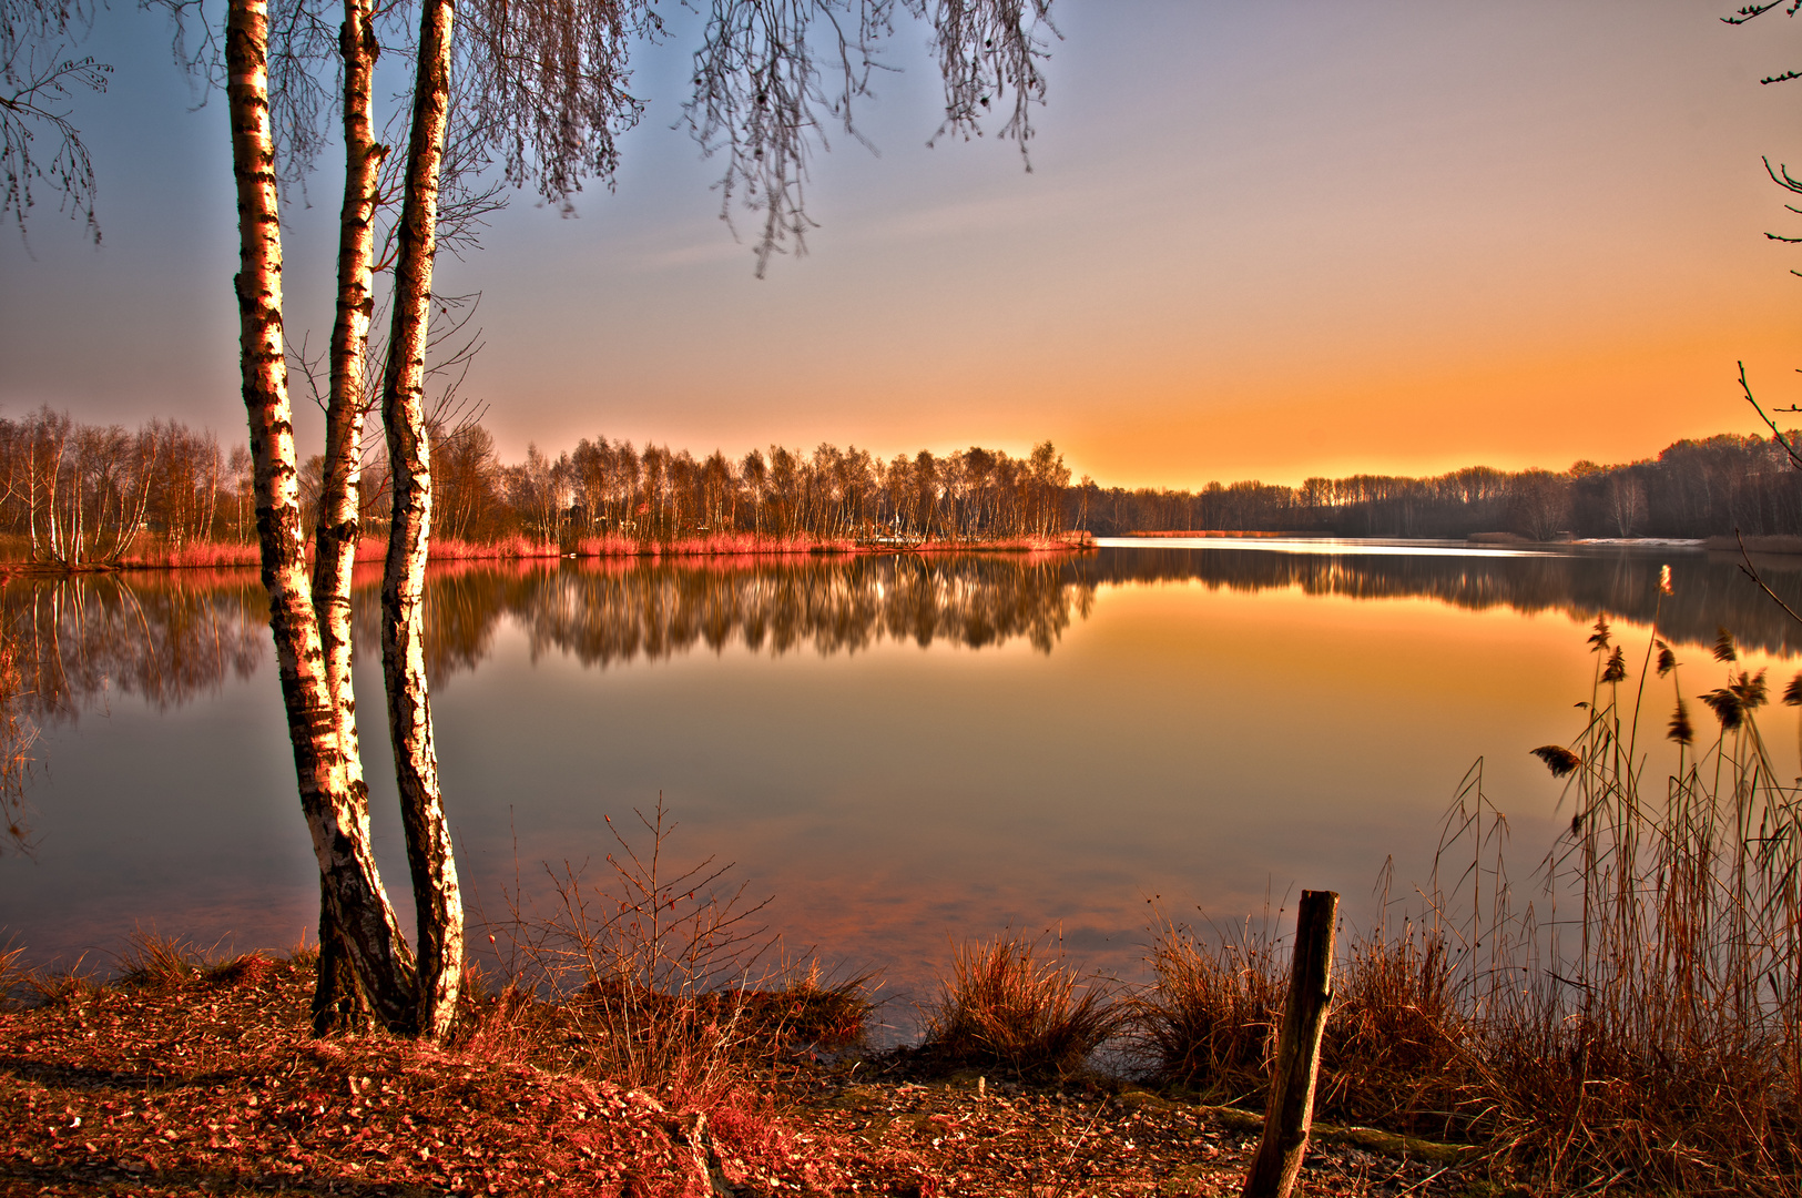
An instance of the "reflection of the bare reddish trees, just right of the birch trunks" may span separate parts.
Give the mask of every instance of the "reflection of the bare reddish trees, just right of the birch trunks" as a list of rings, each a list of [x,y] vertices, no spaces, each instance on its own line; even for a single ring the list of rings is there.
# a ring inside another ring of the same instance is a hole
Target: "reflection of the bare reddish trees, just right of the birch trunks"
[[[883,640],[980,649],[1025,638],[1051,652],[1092,602],[1094,585],[1065,555],[472,567],[432,575],[427,645],[434,677],[472,667],[506,613],[533,654],[557,649],[584,665],[733,641],[834,654]]]

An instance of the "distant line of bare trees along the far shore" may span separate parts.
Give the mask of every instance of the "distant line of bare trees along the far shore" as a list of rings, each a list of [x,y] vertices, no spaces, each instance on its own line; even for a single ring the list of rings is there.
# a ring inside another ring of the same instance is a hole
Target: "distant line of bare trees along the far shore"
[[[301,468],[310,531],[323,459]],[[503,463],[479,423],[440,429],[431,445],[432,521],[449,542],[587,539],[676,542],[708,535],[845,544],[1054,539],[1070,530],[1287,531],[1337,537],[1469,537],[1514,531],[1577,537],[1802,535],[1802,472],[1759,436],[1685,440],[1658,458],[1570,470],[1469,467],[1434,477],[1355,474],[1301,486],[1209,483],[1200,490],[1103,488],[1070,481],[1051,441],[1013,458],[971,447],[883,459],[822,443],[771,445],[742,458],[696,458],[647,443],[582,440],[555,458],[537,447]],[[366,535],[387,528],[380,440],[366,452]],[[128,432],[49,407],[0,418],[0,531],[40,562],[117,560],[146,539],[166,546],[252,542],[250,459],[211,431],[151,420]]]

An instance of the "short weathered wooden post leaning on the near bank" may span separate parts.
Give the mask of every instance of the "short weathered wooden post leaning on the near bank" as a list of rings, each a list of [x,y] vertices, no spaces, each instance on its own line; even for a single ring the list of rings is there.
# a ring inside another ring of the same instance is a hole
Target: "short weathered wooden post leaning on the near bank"
[[[1288,1198],[1301,1173],[1314,1122],[1314,1077],[1321,1068],[1321,1032],[1326,1003],[1333,996],[1333,921],[1339,895],[1303,890],[1296,913],[1296,964],[1288,978],[1288,1003],[1276,1043],[1270,1074],[1270,1104],[1263,1113],[1263,1139],[1245,1175],[1243,1198]]]

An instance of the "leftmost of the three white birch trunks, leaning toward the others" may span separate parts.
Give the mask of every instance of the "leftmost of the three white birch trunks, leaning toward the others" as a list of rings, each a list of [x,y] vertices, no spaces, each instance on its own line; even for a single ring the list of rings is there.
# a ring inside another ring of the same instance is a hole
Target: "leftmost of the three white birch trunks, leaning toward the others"
[[[281,701],[314,838],[323,895],[342,951],[389,1027],[413,1021],[405,944],[369,852],[368,793],[335,733],[319,623],[301,553],[301,504],[281,330],[281,218],[268,124],[268,5],[231,0],[225,25],[227,108],[238,184],[236,277],[243,404],[250,425],[256,533],[268,589],[268,627],[281,672]]]

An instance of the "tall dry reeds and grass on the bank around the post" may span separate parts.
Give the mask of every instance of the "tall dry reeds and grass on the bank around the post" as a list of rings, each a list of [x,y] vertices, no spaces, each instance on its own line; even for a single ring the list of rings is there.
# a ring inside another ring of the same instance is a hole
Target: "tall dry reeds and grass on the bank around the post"
[[[1479,1144],[1499,1175],[1546,1191],[1793,1194],[1802,780],[1779,776],[1759,730],[1771,685],[1723,632],[1725,677],[1696,695],[1717,733],[1699,744],[1656,629],[1629,652],[1598,620],[1589,647],[1579,735],[1534,749],[1568,778],[1570,823],[1532,901],[1508,879],[1508,823],[1478,762],[1422,919],[1384,921],[1337,966],[1319,1113]],[[1802,674],[1786,695],[1802,704]],[[1647,733],[1656,708],[1670,715]],[[1660,731],[1669,771],[1651,766]],[[1133,1020],[1148,1072],[1260,1103],[1283,946],[1166,922],[1151,966]]]

